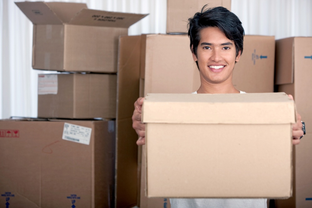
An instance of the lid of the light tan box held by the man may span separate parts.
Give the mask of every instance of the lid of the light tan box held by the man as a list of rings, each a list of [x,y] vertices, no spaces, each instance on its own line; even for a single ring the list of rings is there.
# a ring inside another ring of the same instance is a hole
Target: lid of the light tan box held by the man
[[[147,94],[143,123],[295,123],[295,103],[285,93]]]

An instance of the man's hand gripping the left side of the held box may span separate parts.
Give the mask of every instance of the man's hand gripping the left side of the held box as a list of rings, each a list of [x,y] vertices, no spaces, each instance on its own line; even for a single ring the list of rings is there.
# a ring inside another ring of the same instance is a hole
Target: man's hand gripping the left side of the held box
[[[139,135],[139,139],[136,142],[137,145],[145,144],[145,124],[141,122],[143,100],[144,98],[138,98],[137,101],[135,101],[132,115],[132,127]]]

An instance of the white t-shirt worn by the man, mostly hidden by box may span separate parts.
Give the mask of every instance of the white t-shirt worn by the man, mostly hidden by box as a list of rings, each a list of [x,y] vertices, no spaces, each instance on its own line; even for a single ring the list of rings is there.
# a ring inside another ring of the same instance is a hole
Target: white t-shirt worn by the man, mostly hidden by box
[[[241,198],[172,198],[170,205],[171,208],[267,208],[266,199]]]

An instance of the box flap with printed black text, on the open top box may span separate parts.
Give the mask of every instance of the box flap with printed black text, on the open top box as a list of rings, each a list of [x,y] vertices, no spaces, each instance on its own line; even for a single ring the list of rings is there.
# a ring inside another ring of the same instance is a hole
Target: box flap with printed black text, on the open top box
[[[108,12],[93,9],[82,9],[71,19],[69,24],[101,27],[128,28],[148,14]]]

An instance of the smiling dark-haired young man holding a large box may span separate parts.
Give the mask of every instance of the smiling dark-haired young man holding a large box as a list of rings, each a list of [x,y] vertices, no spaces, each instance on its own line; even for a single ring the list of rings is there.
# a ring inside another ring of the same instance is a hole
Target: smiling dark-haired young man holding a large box
[[[206,5],[207,6],[207,5]],[[244,29],[238,17],[224,7],[202,8],[189,19],[188,36],[193,59],[197,64],[201,85],[194,93],[245,93],[234,88],[234,65],[243,51]],[[292,96],[290,95],[290,98]],[[139,135],[138,145],[145,144],[145,124],[141,123],[144,98],[134,103],[133,128]],[[293,144],[299,144],[303,135],[301,117],[293,125]],[[170,199],[172,208],[186,207],[239,207],[265,208],[266,199]]]

